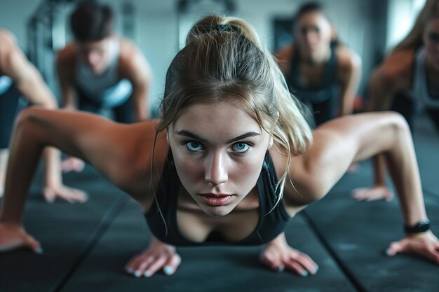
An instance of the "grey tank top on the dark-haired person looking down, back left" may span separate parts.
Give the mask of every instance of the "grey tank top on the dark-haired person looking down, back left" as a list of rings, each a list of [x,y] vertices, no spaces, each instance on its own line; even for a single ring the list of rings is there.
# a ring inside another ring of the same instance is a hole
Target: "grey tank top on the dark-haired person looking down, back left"
[[[76,57],[75,85],[88,98],[104,107],[123,104],[131,96],[133,85],[128,79],[120,79],[118,64],[121,51],[120,39],[113,37],[109,43],[109,64],[104,73],[95,75],[90,67]]]

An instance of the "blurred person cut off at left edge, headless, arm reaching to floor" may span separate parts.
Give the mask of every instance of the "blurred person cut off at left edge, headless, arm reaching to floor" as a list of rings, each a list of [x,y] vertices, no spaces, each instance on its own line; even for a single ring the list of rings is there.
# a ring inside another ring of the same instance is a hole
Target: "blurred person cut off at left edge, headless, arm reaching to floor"
[[[44,83],[41,74],[18,47],[15,36],[0,28],[0,197],[4,193],[9,143],[20,97],[33,106],[46,109],[55,109],[57,106],[56,99]],[[47,148],[44,153],[44,198],[48,202],[53,202],[55,198],[69,202],[84,202],[87,198],[85,193],[62,186],[57,164],[58,155],[59,152],[53,148]]]

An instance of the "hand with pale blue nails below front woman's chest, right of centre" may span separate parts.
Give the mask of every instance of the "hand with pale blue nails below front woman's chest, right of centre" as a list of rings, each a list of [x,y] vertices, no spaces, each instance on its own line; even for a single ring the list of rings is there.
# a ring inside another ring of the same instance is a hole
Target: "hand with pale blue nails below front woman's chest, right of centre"
[[[276,272],[290,270],[306,277],[309,274],[316,274],[318,270],[318,265],[307,254],[288,245],[284,233],[266,244],[259,258],[262,263]]]

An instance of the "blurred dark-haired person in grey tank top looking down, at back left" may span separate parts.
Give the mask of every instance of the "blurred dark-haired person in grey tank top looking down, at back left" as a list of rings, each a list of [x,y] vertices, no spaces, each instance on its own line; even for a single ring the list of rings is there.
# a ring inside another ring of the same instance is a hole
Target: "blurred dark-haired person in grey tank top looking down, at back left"
[[[113,32],[112,22],[112,10],[97,1],[84,1],[72,13],[74,41],[57,60],[63,106],[92,113],[111,109],[121,123],[147,120],[149,64],[134,43]],[[62,165],[65,170],[82,167],[75,158]]]

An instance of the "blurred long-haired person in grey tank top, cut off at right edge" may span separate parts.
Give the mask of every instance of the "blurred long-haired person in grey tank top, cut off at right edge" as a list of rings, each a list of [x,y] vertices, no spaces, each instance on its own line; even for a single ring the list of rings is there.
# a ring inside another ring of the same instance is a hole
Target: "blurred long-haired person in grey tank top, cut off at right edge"
[[[411,31],[391,50],[370,79],[370,111],[401,113],[412,128],[424,110],[439,133],[439,1],[427,0]],[[386,162],[374,159],[374,186],[358,188],[358,200],[391,200],[386,186]]]

